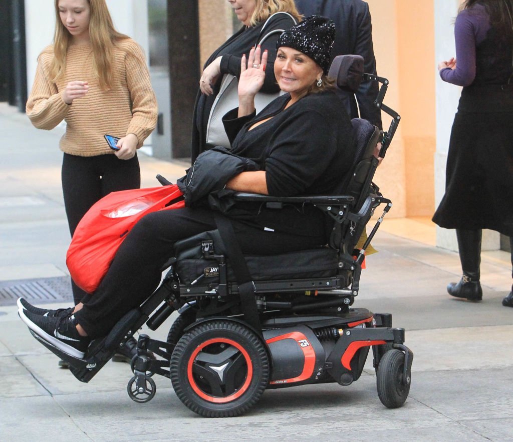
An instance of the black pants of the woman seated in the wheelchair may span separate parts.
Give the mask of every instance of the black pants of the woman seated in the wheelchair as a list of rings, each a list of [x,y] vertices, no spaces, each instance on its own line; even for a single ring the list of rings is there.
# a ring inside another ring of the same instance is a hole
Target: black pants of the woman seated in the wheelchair
[[[174,254],[176,241],[215,228],[213,212],[206,208],[146,215],[121,244],[100,286],[87,298],[82,310],[75,313],[78,324],[91,338],[105,336],[126,312],[141,305],[155,290],[162,267]],[[247,254],[279,254],[326,243],[324,236],[299,237],[241,222],[233,222],[233,228]]]

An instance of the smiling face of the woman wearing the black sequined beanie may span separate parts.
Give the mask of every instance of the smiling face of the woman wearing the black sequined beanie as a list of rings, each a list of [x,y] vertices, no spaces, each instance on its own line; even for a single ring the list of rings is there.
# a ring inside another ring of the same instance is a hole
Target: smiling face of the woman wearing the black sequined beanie
[[[297,49],[282,46],[278,49],[274,61],[274,76],[280,89],[288,92],[292,100],[305,92],[318,78],[322,68],[309,56]]]

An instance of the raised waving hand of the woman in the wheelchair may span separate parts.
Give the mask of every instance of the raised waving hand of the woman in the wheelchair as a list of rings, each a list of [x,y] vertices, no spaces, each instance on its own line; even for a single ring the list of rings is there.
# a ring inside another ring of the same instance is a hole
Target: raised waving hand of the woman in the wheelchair
[[[241,59],[241,77],[239,78],[239,102],[252,101],[260,91],[265,80],[267,50],[260,57],[261,49],[251,48],[246,63],[246,54]]]

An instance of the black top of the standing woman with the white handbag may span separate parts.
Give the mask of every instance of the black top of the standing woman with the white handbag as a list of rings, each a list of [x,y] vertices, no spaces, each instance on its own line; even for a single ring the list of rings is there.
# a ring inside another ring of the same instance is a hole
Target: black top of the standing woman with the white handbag
[[[269,31],[275,29],[289,29],[294,25],[292,19],[286,14],[278,14],[271,18],[267,26],[262,32],[264,23],[257,26],[246,27],[243,26],[238,32],[233,34],[225,43],[216,49],[210,58],[206,61],[205,69],[219,56],[221,59],[221,74],[232,74],[237,78],[241,75],[241,58],[243,54],[249,54],[251,48],[262,40]],[[276,42],[280,34],[276,33],[267,38],[262,44],[262,51],[268,50],[267,67],[265,70],[265,81],[262,87],[262,92],[278,92],[279,87],[276,79],[274,78],[274,60],[276,59]],[[207,122],[210,115],[210,110],[215,97],[219,93],[221,87],[222,75],[215,83],[212,95],[204,95],[201,90],[198,91],[196,96],[196,103],[194,104],[193,127],[192,127],[192,142],[191,142],[191,160],[194,162],[196,157],[203,151],[207,150],[209,146],[206,145],[206,131]],[[210,146],[212,147],[212,146]]]

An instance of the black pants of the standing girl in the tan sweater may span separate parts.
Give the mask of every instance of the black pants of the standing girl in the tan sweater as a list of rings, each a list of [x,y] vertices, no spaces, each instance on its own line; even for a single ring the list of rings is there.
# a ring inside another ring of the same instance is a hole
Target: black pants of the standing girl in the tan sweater
[[[129,160],[115,155],[80,157],[64,154],[61,169],[64,207],[71,236],[89,208],[111,192],[141,187],[137,155]],[[73,301],[78,304],[86,292],[71,281]]]

